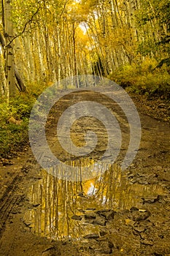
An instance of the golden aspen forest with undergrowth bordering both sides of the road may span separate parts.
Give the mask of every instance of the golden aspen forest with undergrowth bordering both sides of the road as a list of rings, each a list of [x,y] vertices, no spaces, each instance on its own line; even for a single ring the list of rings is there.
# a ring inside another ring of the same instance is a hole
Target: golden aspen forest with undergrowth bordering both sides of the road
[[[36,98],[63,78],[104,76],[169,100],[169,0],[1,0],[0,8],[1,156],[26,140]]]

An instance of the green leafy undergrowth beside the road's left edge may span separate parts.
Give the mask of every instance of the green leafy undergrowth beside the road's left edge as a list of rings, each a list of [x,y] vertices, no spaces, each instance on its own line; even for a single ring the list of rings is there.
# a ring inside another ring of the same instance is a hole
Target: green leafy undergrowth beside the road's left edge
[[[35,98],[20,95],[8,103],[0,99],[0,157],[16,155],[28,143],[28,118]],[[9,122],[14,118],[19,124]]]

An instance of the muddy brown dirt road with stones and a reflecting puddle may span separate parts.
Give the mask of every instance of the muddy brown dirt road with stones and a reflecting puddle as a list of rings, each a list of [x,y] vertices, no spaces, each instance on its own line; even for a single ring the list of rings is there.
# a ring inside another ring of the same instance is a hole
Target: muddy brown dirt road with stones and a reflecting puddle
[[[95,97],[87,91],[78,95],[79,100]],[[96,101],[119,121],[123,144],[118,165],[129,143],[127,118],[107,97]],[[76,102],[77,94],[66,95],[47,120],[47,142],[62,162],[79,160],[66,154],[56,139],[58,118]],[[12,159],[12,165],[0,167],[0,256],[170,255],[169,124],[138,110],[142,139],[136,158],[123,173],[113,167],[100,181],[60,181],[42,170],[30,147]],[[107,132],[88,117],[72,127],[72,140],[83,146],[91,126],[100,142],[90,161],[104,153]],[[82,161],[88,162],[89,155]]]

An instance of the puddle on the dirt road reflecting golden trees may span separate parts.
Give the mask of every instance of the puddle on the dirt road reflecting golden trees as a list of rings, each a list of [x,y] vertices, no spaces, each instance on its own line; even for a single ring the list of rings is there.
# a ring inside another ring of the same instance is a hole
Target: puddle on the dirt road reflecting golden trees
[[[102,165],[98,168],[102,173]],[[159,185],[129,184],[117,165],[110,166],[97,178],[82,182],[60,180],[42,170],[42,179],[28,191],[31,206],[24,219],[36,235],[77,240],[89,233],[99,233],[106,225],[102,219],[99,219],[101,223],[91,225],[98,210],[142,207],[142,197],[164,193]]]

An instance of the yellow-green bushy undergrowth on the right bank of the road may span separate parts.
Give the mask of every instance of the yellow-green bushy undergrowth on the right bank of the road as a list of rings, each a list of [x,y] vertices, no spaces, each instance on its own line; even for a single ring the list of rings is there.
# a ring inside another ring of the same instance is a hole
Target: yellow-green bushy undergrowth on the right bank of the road
[[[109,79],[129,92],[170,99],[170,69],[166,64],[155,69],[157,64],[152,59],[145,59],[137,65],[128,64],[112,72]]]

